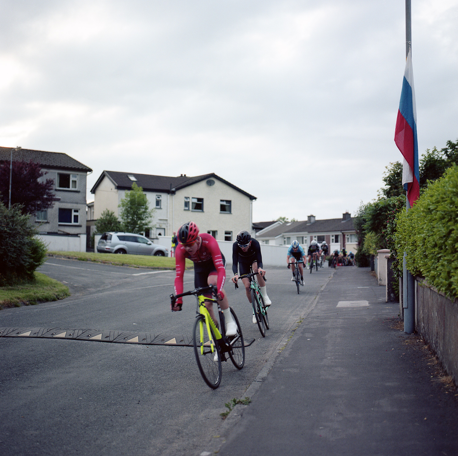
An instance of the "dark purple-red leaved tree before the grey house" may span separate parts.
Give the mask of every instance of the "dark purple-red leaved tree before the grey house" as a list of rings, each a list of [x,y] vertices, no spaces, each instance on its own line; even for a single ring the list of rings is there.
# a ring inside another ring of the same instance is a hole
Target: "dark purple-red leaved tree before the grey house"
[[[11,173],[11,205],[20,204],[22,214],[35,214],[54,204],[53,179],[38,181],[45,174],[38,163],[13,161]],[[0,163],[0,201],[8,207],[10,193],[10,162]]]

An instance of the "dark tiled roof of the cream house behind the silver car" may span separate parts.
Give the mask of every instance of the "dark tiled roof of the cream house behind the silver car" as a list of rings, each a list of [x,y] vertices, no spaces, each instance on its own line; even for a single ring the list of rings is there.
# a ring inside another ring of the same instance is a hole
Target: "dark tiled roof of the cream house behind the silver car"
[[[144,191],[149,192],[164,192],[164,193],[172,193],[172,189],[180,190],[181,188],[189,187],[190,185],[196,184],[197,182],[204,181],[206,179],[215,178],[225,184],[229,185],[229,187],[234,188],[240,193],[243,193],[250,199],[256,199],[250,193],[245,192],[239,187],[231,184],[228,181],[225,181],[223,178],[217,176],[214,173],[211,174],[203,174],[202,176],[178,176],[178,177],[169,177],[169,176],[155,176],[152,174],[138,174],[138,173],[126,173],[120,171],[104,171],[100,177],[98,178],[97,182],[91,188],[91,193],[95,193],[100,182],[103,180],[104,176],[107,176],[111,181],[114,182],[117,188],[121,190],[129,190],[132,187],[131,179],[128,176],[134,176],[136,178],[136,184],[139,187],[142,187]]]

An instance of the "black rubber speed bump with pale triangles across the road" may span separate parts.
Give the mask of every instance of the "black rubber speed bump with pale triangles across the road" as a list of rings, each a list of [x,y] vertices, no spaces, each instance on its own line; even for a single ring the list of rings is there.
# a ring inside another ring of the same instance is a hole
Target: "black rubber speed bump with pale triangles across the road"
[[[151,334],[132,331],[82,330],[62,328],[0,328],[0,337],[35,337],[38,339],[71,339],[75,341],[112,342],[118,344],[193,346],[185,335]],[[250,346],[255,339],[245,341]]]

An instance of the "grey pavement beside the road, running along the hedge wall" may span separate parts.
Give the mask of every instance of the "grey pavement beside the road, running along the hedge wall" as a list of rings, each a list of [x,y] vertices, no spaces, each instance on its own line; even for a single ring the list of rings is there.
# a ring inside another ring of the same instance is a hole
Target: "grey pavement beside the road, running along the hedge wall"
[[[369,269],[336,270],[218,454],[457,455],[456,392],[393,329],[398,312]]]

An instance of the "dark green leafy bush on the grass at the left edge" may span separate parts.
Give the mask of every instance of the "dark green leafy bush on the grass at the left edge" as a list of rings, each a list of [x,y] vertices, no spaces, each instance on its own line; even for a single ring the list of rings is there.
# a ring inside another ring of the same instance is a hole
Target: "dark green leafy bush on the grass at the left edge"
[[[7,209],[0,202],[0,286],[34,280],[33,271],[46,255],[46,245],[35,234],[21,206]]]

